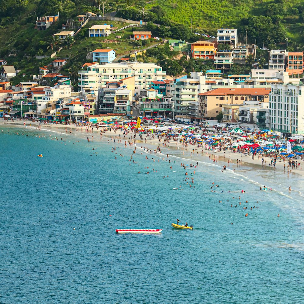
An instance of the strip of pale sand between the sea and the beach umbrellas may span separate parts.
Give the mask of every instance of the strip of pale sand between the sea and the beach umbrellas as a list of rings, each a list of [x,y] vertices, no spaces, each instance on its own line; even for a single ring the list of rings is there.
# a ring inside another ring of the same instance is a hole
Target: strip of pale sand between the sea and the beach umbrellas
[[[29,124],[31,124],[31,126],[29,126]],[[37,129],[38,130],[38,122],[30,122],[28,121],[27,125],[26,125],[26,129]],[[21,120],[14,120],[12,121],[7,121],[7,122],[2,122],[1,123],[2,128],[6,128],[9,126],[19,126],[22,127],[24,126],[24,122]],[[197,160],[197,157],[203,157],[204,161],[209,161],[210,163],[213,162],[213,159],[215,158],[215,162],[217,164],[220,164],[222,166],[226,166],[227,168],[231,168],[233,166],[233,169],[235,171],[240,170],[242,168],[242,166],[250,166],[252,168],[254,168],[255,170],[272,170],[274,174],[281,172],[286,174],[287,176],[287,171],[289,171],[289,174],[299,174],[301,176],[304,176],[304,166],[303,166],[303,170],[302,170],[302,163],[304,162],[304,160],[299,160],[298,162],[300,162],[300,166],[298,166],[298,168],[291,170],[291,168],[288,168],[288,161],[281,161],[279,159],[277,159],[276,162],[276,166],[275,168],[273,166],[269,167],[269,163],[271,163],[271,157],[265,157],[265,156],[261,156],[260,158],[258,157],[258,155],[256,155],[254,157],[254,159],[252,159],[251,155],[244,155],[242,153],[239,152],[233,152],[233,151],[218,151],[217,149],[215,149],[214,151],[209,151],[206,150],[205,147],[197,147],[197,144],[195,145],[188,145],[187,148],[185,148],[185,146],[183,146],[182,143],[177,143],[174,140],[171,140],[167,143],[164,143],[164,140],[162,139],[161,141],[158,140],[157,136],[155,136],[154,139],[150,139],[148,136],[146,138],[146,140],[141,140],[139,139],[139,134],[138,133],[134,133],[133,131],[129,131],[129,133],[124,136],[123,132],[119,132],[118,131],[103,131],[102,132],[102,137],[100,136],[100,130],[104,129],[104,127],[89,127],[89,126],[83,126],[82,130],[80,126],[75,126],[75,125],[62,125],[62,124],[41,124],[41,132],[43,130],[56,130],[57,132],[63,133],[63,134],[73,134],[73,135],[77,135],[77,134],[83,134],[83,135],[88,135],[89,138],[92,138],[92,136],[94,136],[94,141],[98,141],[98,140],[104,140],[105,138],[107,138],[107,140],[109,138],[111,139],[119,139],[122,142],[123,141],[132,141],[134,143],[133,140],[133,136],[136,134],[136,140],[135,143],[137,146],[142,146],[142,147],[149,147],[149,149],[156,149],[156,147],[160,147],[161,150],[166,151],[165,154],[169,153],[170,154],[170,150],[180,150],[181,156],[183,157],[192,157],[194,158],[195,156],[195,160]],[[120,137],[119,137],[120,134]],[[143,134],[145,135],[145,134]],[[163,145],[164,143],[164,145]],[[152,145],[152,147],[151,147]],[[194,149],[194,150],[193,150]],[[264,161],[266,162],[266,165],[262,165],[262,158],[264,158]],[[229,161],[229,163],[228,163]],[[284,169],[284,164],[285,164],[285,169]],[[234,166],[237,165],[237,166]],[[304,164],[303,164],[304,165]]]

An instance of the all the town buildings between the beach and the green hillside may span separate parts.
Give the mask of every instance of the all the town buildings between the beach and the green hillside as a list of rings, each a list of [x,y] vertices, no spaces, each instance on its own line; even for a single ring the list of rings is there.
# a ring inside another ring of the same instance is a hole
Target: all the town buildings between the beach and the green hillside
[[[37,20],[43,30],[57,19]],[[79,15],[79,22],[88,16]],[[49,23],[39,23],[49,22]],[[89,37],[108,36],[112,26],[92,26]],[[65,39],[69,32],[54,34]],[[134,31],[132,40],[151,38]],[[65,59],[39,68],[29,82],[11,86],[18,71],[0,60],[0,116],[37,117],[53,121],[102,121],[105,116],[162,116],[180,121],[206,122],[221,112],[227,123],[254,123],[281,132],[304,133],[303,52],[270,50],[268,69],[253,65],[250,74],[228,74],[234,63],[255,57],[256,46],[237,42],[236,29],[219,29],[217,38],[194,43],[168,40],[173,50],[195,59],[214,60],[216,69],[172,78],[154,63],[123,58],[115,63],[110,48],[92,52],[92,62],[78,71],[78,92],[60,74]]]

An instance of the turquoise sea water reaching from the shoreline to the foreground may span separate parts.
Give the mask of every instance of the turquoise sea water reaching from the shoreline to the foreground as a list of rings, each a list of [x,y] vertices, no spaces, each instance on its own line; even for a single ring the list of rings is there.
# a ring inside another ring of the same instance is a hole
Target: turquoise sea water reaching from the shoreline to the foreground
[[[111,140],[85,139],[0,133],[0,303],[304,303],[302,179],[197,158],[189,188],[180,164],[195,157],[171,149],[169,164],[139,144],[138,165],[134,147],[116,143],[115,160]],[[266,181],[275,191],[259,190]],[[177,218],[195,229],[173,229]],[[122,227],[163,232],[117,235]]]

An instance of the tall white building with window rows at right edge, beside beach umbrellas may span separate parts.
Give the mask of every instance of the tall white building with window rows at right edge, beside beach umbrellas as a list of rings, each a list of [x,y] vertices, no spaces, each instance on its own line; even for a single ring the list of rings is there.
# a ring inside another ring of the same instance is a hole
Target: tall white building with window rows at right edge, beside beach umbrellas
[[[273,131],[304,134],[303,85],[271,85],[270,128]]]

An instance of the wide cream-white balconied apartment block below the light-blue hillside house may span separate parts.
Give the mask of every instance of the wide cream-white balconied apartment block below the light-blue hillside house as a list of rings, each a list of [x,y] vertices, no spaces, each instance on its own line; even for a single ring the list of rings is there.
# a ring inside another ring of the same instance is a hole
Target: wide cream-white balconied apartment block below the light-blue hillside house
[[[94,94],[98,88],[105,88],[109,81],[135,77],[135,93],[141,88],[149,88],[152,81],[165,79],[166,72],[162,67],[153,63],[121,62],[94,64],[86,71],[78,71],[78,88],[83,94]]]

